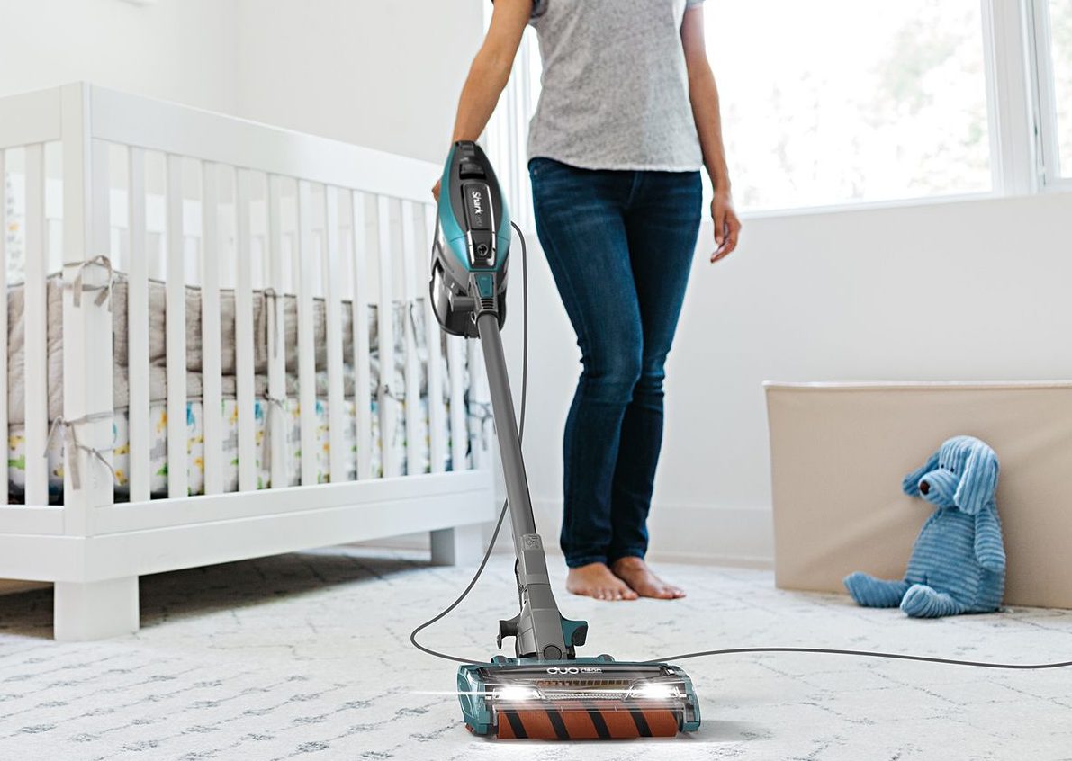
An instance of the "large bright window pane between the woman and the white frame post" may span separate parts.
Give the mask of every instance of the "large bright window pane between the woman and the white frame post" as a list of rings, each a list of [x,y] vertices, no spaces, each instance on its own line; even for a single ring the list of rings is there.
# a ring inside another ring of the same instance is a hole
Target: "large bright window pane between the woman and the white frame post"
[[[980,0],[719,0],[704,14],[742,208],[992,189]]]

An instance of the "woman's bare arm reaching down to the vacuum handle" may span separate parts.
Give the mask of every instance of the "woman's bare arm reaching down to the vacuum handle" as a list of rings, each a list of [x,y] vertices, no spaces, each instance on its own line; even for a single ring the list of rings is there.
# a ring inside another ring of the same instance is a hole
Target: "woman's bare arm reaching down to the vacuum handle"
[[[532,16],[533,0],[497,0],[483,44],[473,59],[461,98],[451,143],[475,140],[488,125],[498,96],[510,78],[521,35]],[[440,183],[432,194],[438,199]]]

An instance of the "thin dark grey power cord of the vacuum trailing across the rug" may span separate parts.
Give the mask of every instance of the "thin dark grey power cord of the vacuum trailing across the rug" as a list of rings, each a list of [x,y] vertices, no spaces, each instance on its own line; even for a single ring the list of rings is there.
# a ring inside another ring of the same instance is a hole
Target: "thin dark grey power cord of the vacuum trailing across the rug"
[[[522,293],[522,354],[521,354],[521,414],[518,420],[518,436],[521,441],[524,441],[525,436],[525,402],[528,397],[528,250],[525,247],[525,236],[521,232],[521,228],[513,222],[510,222],[510,226],[513,227],[515,232],[518,234],[518,238],[521,240],[521,293]],[[462,603],[473,587],[476,586],[477,581],[480,580],[480,575],[483,573],[485,567],[488,565],[488,561],[491,558],[492,550],[495,547],[495,540],[498,538],[498,533],[503,527],[503,521],[506,520],[506,509],[507,503],[503,502],[503,507],[498,511],[498,520],[495,522],[495,529],[491,533],[491,540],[488,542],[488,549],[485,550],[483,558],[480,561],[480,565],[477,566],[476,572],[470,580],[470,583],[462,590],[462,593],[458,595],[453,602],[443,609],[440,613],[433,617],[420,624],[412,632],[410,632],[410,642],[414,647],[427,653],[428,655],[435,656],[436,658],[443,658],[444,660],[453,660],[459,663],[472,663],[476,666],[487,665],[488,661],[483,660],[473,660],[472,658],[462,658],[457,655],[449,655],[447,653],[440,653],[430,647],[426,647],[417,641],[417,635],[427,629],[432,624],[446,617],[453,611],[458,606]],[[836,650],[827,647],[729,647],[725,650],[704,650],[697,651],[695,653],[682,653],[680,655],[673,655],[666,658],[652,658],[651,660],[641,661],[643,663],[661,663],[674,660],[685,660],[686,658],[704,658],[708,656],[716,655],[743,655],[743,654],[755,654],[755,653],[809,653],[818,655],[847,655],[859,658],[882,658],[887,660],[914,660],[923,663],[942,663],[946,666],[970,666],[980,669],[1009,669],[1017,671],[1041,671],[1043,669],[1063,669],[1072,667],[1072,660],[1066,660],[1055,663],[992,663],[986,661],[978,660],[957,660],[955,658],[936,658],[928,657],[924,655],[904,655],[902,653],[880,653],[872,651],[860,651],[860,650]]]

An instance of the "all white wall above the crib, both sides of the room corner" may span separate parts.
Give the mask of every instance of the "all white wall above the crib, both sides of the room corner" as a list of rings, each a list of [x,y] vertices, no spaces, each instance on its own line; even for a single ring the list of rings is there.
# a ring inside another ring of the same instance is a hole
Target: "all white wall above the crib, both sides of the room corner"
[[[481,0],[0,0],[0,96],[76,80],[442,161]]]

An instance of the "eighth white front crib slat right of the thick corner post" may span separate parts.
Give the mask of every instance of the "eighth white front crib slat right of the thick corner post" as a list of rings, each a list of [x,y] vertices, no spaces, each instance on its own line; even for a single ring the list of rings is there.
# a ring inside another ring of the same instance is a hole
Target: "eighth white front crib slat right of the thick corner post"
[[[372,400],[369,397],[369,256],[364,194],[351,192],[354,237],[354,407],[357,413],[357,477],[372,477]]]

